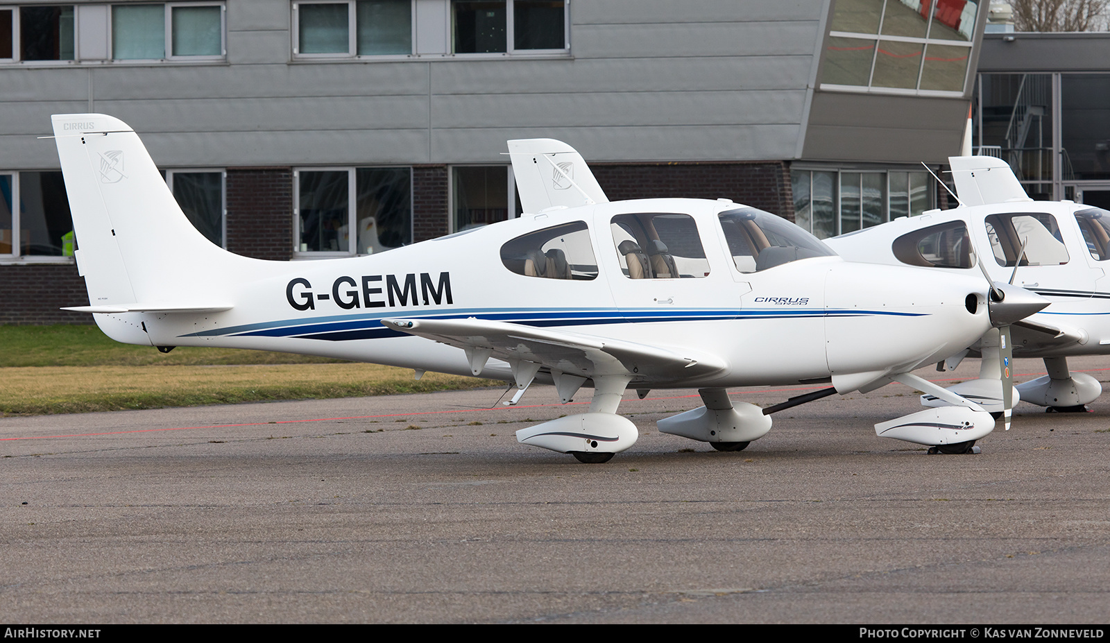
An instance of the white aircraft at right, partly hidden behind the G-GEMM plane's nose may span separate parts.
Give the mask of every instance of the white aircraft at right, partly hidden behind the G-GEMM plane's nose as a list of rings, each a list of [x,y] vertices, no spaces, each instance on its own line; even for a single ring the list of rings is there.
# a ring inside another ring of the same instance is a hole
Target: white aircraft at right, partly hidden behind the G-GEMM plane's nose
[[[1013,324],[1019,358],[1043,358],[1048,374],[1016,388],[1026,402],[1058,411],[1082,411],[1102,392],[1098,380],[1068,370],[1072,355],[1110,354],[1110,212],[1071,201],[1033,201],[1006,161],[991,157],[949,159],[959,208],[850,232],[827,240],[841,257],[889,265],[928,267],[939,273],[976,273],[1033,291],[1051,305]],[[977,259],[978,258],[978,259]],[[977,380],[949,386],[1002,409],[1000,341],[995,331],[969,344],[938,370],[952,370],[969,352],[982,355]],[[922,404],[942,405],[922,395]]]

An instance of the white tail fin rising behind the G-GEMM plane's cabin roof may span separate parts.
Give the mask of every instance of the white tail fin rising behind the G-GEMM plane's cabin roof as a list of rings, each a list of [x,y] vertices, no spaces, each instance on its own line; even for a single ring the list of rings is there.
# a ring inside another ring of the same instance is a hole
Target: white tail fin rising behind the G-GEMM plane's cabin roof
[[[607,203],[605,192],[574,148],[554,139],[508,141],[516,193],[525,212],[554,205]]]

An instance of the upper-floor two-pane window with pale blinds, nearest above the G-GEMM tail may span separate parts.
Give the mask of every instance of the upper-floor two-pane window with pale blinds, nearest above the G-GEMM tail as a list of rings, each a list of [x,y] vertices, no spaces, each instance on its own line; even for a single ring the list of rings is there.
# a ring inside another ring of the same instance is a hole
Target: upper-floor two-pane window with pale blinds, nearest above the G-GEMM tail
[[[223,13],[222,4],[115,4],[112,59],[221,58]]]

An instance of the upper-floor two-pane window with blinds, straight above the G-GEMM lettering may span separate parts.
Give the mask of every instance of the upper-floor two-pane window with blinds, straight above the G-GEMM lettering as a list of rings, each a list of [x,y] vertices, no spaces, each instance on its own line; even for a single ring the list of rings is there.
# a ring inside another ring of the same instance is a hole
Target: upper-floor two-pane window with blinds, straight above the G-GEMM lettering
[[[413,0],[294,2],[293,53],[305,57],[408,56]]]

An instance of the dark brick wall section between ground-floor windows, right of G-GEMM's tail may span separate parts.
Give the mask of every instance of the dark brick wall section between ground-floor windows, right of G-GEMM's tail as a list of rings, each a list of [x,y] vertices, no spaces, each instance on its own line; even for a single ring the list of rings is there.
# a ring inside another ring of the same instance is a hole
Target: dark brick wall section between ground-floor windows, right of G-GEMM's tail
[[[228,170],[228,250],[287,261],[293,254],[293,171]]]

